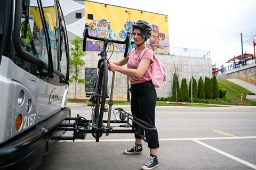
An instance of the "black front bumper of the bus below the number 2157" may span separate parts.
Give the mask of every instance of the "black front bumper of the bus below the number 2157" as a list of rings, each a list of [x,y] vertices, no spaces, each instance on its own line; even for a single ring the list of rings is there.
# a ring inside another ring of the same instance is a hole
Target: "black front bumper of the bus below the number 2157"
[[[70,108],[38,123],[33,128],[0,145],[0,169],[37,169],[65,131],[59,124],[66,123]]]

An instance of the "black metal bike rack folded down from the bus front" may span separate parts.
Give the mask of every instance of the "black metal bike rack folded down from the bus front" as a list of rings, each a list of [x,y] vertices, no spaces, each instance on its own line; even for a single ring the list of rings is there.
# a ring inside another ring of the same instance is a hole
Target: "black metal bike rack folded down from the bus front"
[[[79,115],[77,115],[77,117],[67,117],[67,120],[74,121],[74,123],[64,123],[60,124],[60,126],[62,127],[62,130],[73,131],[73,137],[62,136],[59,137],[59,140],[75,141],[75,139],[85,139],[87,133],[93,133],[93,131],[99,130],[101,133],[106,134],[135,133],[143,141],[148,142],[153,132],[156,131],[155,126],[151,126],[147,122],[132,116],[130,113],[125,112],[123,108],[114,108],[113,113],[115,115],[115,120],[110,121],[110,127],[104,126],[101,129],[91,129],[91,121],[88,121]],[[103,123],[107,122],[107,120],[103,120]],[[135,128],[135,125],[137,125],[138,128]]]

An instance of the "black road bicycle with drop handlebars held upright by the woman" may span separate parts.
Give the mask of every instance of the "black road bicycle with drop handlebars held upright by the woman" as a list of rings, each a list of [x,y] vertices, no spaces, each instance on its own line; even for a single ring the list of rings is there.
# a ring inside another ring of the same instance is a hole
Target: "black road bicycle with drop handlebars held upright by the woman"
[[[105,128],[103,124],[103,113],[108,112],[108,108],[105,107],[106,98],[108,97],[108,58],[107,58],[107,47],[110,44],[116,43],[116,44],[125,44],[125,52],[124,57],[126,57],[128,49],[129,49],[129,43],[130,43],[130,32],[127,32],[126,38],[124,41],[119,40],[111,40],[107,38],[101,38],[101,37],[94,37],[89,35],[89,24],[85,24],[85,29],[83,33],[83,51],[86,51],[86,39],[94,39],[103,41],[103,49],[101,51],[100,55],[101,58],[98,61],[98,74],[97,74],[97,80],[94,84],[94,88],[92,93],[86,92],[86,97],[90,97],[90,102],[92,102],[92,135],[96,139],[96,141],[99,141],[99,138],[101,137],[103,130]],[[111,56],[110,56],[111,57]],[[114,72],[113,72],[114,74]],[[113,76],[114,79],[114,76]],[[112,83],[113,85],[113,83]],[[109,106],[113,105],[113,100],[111,98],[113,94],[113,87],[111,88],[111,95],[110,95],[110,102]],[[112,101],[112,103],[111,103]],[[111,111],[111,109],[110,109]],[[109,125],[110,118],[108,118],[108,125],[107,127],[110,128]]]

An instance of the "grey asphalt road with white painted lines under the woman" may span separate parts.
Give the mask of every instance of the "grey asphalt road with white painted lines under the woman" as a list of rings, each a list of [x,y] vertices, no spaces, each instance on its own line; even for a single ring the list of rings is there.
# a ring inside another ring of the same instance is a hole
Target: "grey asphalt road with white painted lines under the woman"
[[[90,118],[89,106],[69,107],[73,116]],[[156,127],[156,169],[256,169],[255,107],[157,107]],[[140,169],[149,149],[143,143],[141,155],[123,154],[133,144],[130,133],[103,134],[100,142],[91,134],[85,140],[60,141],[38,169]]]

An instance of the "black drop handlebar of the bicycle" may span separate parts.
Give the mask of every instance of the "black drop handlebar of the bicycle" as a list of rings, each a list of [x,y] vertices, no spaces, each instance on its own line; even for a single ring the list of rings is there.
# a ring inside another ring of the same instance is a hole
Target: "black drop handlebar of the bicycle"
[[[128,49],[129,49],[129,43],[130,43],[130,31],[127,32],[126,38],[124,41],[119,41],[119,40],[112,40],[112,39],[107,39],[107,38],[101,38],[101,37],[94,37],[89,35],[89,24],[85,24],[84,28],[84,33],[83,33],[83,52],[86,51],[86,39],[94,39],[94,40],[99,40],[99,41],[104,41],[104,42],[110,42],[110,43],[116,43],[116,44],[125,44],[125,51],[124,51],[124,57],[127,56]]]

